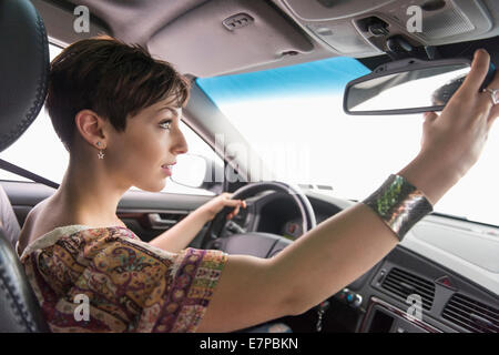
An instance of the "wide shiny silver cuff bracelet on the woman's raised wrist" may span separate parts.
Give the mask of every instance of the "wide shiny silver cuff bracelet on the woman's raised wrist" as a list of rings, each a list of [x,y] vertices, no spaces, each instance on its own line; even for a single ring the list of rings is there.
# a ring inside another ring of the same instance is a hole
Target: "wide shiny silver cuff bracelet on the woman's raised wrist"
[[[399,241],[417,222],[434,211],[422,192],[403,176],[394,174],[363,203],[381,217]]]

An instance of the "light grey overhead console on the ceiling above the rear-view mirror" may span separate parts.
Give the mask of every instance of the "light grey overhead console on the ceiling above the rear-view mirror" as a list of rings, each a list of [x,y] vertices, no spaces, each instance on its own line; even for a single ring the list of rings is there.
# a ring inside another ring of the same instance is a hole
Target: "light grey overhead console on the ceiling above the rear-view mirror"
[[[371,57],[389,50],[499,34],[495,0],[282,0],[282,3],[313,38],[338,55]]]

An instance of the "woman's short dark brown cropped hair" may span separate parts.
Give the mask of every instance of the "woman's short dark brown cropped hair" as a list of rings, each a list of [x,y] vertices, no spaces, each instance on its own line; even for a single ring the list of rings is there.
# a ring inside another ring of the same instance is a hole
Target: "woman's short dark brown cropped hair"
[[[171,63],[153,59],[141,45],[101,36],[74,42],[53,59],[45,106],[71,152],[79,111],[93,110],[122,132],[129,114],[161,100],[172,98],[184,106],[190,89]]]

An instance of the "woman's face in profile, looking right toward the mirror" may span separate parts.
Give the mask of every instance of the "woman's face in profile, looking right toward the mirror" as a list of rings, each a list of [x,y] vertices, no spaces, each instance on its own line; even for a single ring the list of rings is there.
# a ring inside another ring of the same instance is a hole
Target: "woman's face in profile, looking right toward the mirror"
[[[187,152],[180,118],[181,110],[164,100],[129,116],[124,132],[111,130],[104,161],[120,185],[163,190],[171,170],[162,166]]]

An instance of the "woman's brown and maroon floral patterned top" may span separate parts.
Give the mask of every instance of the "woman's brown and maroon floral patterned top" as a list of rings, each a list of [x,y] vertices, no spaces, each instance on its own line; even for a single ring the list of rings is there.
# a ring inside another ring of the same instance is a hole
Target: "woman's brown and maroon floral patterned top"
[[[83,225],[58,227],[21,255],[52,332],[195,332],[226,261],[221,251],[170,253],[122,226]]]

